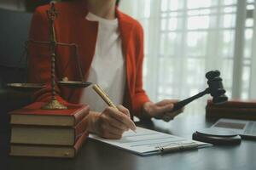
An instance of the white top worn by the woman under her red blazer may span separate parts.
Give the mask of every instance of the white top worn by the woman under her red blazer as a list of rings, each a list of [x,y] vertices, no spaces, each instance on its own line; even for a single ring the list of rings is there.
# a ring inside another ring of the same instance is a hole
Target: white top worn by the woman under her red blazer
[[[99,84],[115,105],[122,105],[125,90],[125,60],[118,20],[102,19],[91,13],[87,14],[86,20],[99,22],[96,51],[87,81]],[[108,106],[91,86],[84,88],[80,103],[89,105],[91,111],[99,112]]]

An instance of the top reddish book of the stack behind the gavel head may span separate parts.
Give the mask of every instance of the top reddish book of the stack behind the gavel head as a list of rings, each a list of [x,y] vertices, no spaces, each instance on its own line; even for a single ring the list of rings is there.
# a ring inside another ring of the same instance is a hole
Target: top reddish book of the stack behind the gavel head
[[[212,100],[207,100],[208,107],[219,107],[219,108],[255,108],[256,100],[238,100],[232,99],[221,105],[214,105]]]

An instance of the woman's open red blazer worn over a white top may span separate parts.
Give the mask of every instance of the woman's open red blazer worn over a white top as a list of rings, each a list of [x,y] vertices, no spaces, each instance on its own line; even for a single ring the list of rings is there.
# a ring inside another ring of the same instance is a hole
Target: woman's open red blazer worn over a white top
[[[73,42],[79,46],[79,57],[87,80],[90,64],[95,53],[98,23],[85,20],[88,11],[85,0],[69,3],[56,3],[58,16],[55,20],[55,34],[58,42]],[[46,10],[49,5],[37,8],[32,17],[30,38],[37,41],[49,41],[49,23]],[[143,90],[143,28],[126,14],[116,9],[119,30],[122,39],[122,50],[125,56],[126,86],[124,104],[132,115],[139,116],[142,106],[149,101]],[[71,48],[56,48],[56,81],[62,77],[68,80],[81,80],[77,59]],[[34,94],[35,100],[50,99],[50,54],[49,47],[31,44],[29,47],[29,80],[30,82],[46,82],[47,88]],[[61,102],[79,103],[82,89],[57,88],[57,99]]]

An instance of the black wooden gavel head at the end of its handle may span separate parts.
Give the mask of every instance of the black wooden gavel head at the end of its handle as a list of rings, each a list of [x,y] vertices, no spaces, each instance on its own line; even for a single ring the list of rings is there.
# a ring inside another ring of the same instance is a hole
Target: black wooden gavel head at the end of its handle
[[[228,100],[228,97],[225,95],[226,91],[224,90],[222,78],[219,76],[219,71],[209,71],[206,74],[209,85],[207,92],[212,95],[212,102],[217,105],[223,104]]]

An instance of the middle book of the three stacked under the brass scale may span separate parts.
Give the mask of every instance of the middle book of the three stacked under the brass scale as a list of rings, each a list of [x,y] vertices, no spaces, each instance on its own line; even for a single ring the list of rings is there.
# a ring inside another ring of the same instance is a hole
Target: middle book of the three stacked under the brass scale
[[[84,132],[85,119],[75,127],[45,127],[13,125],[11,144],[55,144],[73,145]]]

